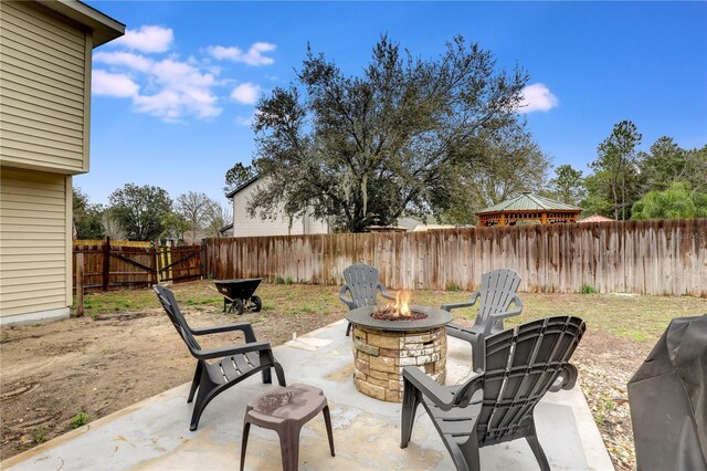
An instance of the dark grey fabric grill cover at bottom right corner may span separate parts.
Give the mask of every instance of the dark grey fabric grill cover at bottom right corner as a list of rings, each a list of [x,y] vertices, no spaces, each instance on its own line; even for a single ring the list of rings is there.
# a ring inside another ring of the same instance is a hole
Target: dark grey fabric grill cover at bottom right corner
[[[671,322],[629,401],[639,470],[707,470],[707,315]]]

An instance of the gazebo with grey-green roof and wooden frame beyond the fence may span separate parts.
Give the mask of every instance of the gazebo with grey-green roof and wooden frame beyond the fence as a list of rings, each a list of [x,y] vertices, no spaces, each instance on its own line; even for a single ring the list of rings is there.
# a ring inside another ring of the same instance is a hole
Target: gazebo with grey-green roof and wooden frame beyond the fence
[[[479,226],[515,226],[518,221],[539,221],[541,224],[577,222],[582,208],[549,198],[524,192],[516,198],[478,211]]]

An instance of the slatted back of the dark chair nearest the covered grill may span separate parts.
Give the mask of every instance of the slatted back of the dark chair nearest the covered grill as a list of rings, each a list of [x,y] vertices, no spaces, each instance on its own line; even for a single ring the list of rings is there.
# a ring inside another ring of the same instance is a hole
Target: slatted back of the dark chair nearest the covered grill
[[[579,317],[538,320],[488,336],[479,446],[526,437],[538,401],[569,363],[585,331]]]

